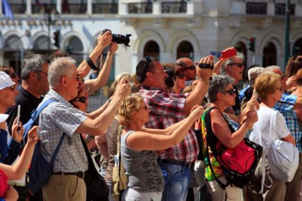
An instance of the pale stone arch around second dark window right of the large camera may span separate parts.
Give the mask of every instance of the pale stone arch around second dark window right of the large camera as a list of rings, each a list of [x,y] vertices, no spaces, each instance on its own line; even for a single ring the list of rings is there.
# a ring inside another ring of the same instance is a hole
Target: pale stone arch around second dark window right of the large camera
[[[199,42],[197,38],[189,31],[186,30],[180,30],[172,34],[172,36],[169,38],[167,43],[167,52],[172,53],[172,59],[176,60],[177,57],[177,47],[182,41],[189,41],[194,49],[194,60],[199,60],[200,58],[197,58],[197,56],[200,56],[200,48],[199,48]]]

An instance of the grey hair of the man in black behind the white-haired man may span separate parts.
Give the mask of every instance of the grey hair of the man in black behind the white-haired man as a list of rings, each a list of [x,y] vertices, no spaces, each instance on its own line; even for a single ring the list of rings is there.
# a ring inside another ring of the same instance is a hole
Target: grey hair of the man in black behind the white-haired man
[[[44,63],[48,64],[49,62],[50,61],[48,57],[42,54],[32,54],[30,56],[27,56],[25,59],[23,59],[21,64],[21,79],[27,80],[31,71],[41,72],[42,65]]]

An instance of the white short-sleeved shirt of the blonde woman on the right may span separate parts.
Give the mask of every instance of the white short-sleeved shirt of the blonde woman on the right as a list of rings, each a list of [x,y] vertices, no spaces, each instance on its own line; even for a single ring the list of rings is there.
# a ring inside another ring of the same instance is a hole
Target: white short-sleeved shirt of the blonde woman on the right
[[[271,128],[271,116],[276,114],[275,121]],[[272,130],[272,136],[270,136],[270,129]],[[261,139],[259,139],[259,132]],[[254,123],[253,131],[250,136],[250,140],[263,147],[265,150],[273,140],[281,140],[290,134],[285,122],[284,116],[273,108],[260,106],[258,110],[258,121]],[[260,143],[261,140],[261,143]]]

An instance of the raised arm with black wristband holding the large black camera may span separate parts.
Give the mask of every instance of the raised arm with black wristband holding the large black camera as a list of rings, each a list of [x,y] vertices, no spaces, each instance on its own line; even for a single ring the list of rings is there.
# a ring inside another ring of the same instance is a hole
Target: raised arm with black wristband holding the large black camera
[[[96,63],[97,58],[100,56],[100,54],[105,49],[105,47],[107,47],[111,43],[111,41],[112,41],[112,35],[110,31],[106,31],[103,35],[102,34],[99,35],[97,46],[89,54],[89,57],[93,63]],[[89,74],[91,68],[87,63],[86,59],[82,61],[82,63],[79,65],[77,70],[81,78],[84,78]]]

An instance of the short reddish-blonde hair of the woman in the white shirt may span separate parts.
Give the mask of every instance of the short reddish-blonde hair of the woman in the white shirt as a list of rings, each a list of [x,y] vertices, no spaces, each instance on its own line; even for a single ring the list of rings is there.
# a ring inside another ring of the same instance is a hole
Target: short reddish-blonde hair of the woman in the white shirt
[[[267,100],[267,95],[273,94],[280,82],[280,76],[274,73],[262,73],[255,81],[255,90],[261,101]]]

